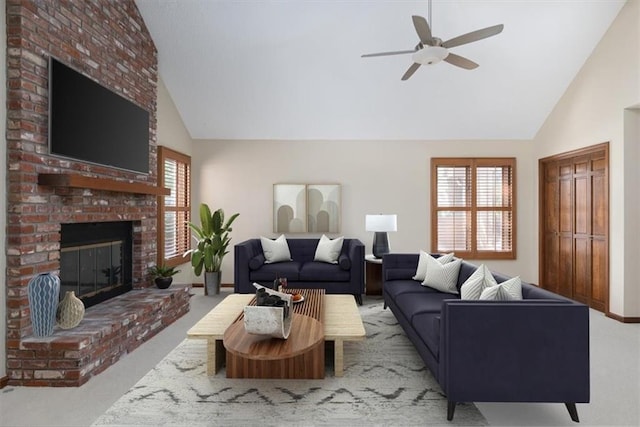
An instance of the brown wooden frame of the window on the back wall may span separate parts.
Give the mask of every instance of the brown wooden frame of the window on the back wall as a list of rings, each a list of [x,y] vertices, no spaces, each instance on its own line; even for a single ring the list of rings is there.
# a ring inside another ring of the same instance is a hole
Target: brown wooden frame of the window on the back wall
[[[470,206],[438,206],[438,168],[439,167],[468,167],[470,168],[471,189]],[[476,168],[478,167],[510,167],[511,168],[511,205],[510,206],[477,206],[477,182]],[[433,157],[431,158],[431,251],[443,252],[438,248],[438,212],[459,211],[469,212],[471,216],[470,250],[454,251],[456,256],[466,259],[516,259],[517,257],[517,185],[516,185],[516,158],[515,157]],[[477,244],[477,214],[486,211],[511,212],[511,250],[493,251],[478,250]]]

